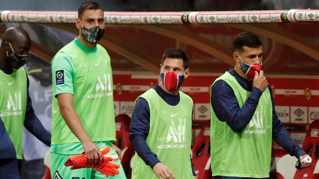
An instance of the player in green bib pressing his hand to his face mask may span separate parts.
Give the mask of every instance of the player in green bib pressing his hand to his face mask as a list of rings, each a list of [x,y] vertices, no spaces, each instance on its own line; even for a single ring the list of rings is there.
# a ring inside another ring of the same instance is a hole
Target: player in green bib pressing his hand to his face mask
[[[301,162],[308,155],[278,119],[273,91],[260,70],[260,39],[251,32],[243,32],[235,36],[233,48],[235,68],[216,79],[211,88],[212,176],[269,178],[272,139]]]

